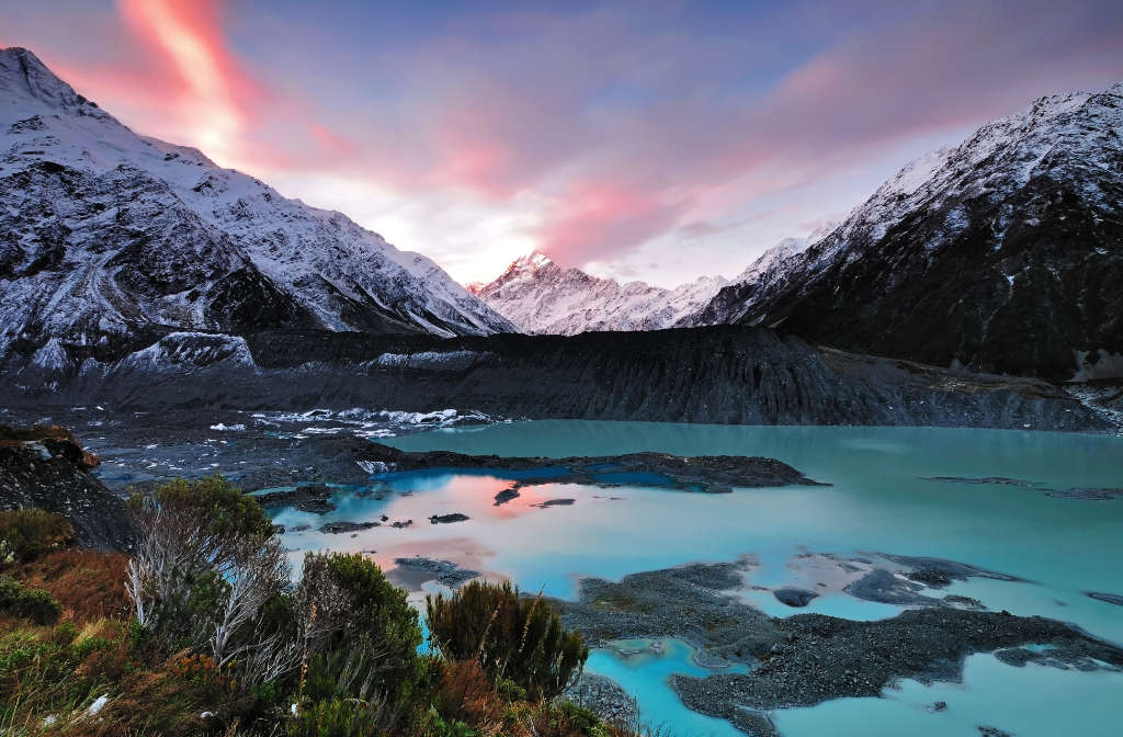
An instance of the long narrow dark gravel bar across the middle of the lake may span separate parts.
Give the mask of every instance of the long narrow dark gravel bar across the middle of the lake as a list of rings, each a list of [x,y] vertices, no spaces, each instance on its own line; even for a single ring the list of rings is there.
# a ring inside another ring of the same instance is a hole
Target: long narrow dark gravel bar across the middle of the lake
[[[499,468],[503,471],[545,471],[539,476],[523,476],[495,495],[496,504],[518,495],[522,486],[565,481],[586,485],[613,486],[642,474],[648,483],[684,491],[728,493],[733,486],[828,485],[813,481],[775,458],[738,455],[683,457],[667,453],[629,453],[611,456],[569,456],[565,458],[524,458],[497,455],[466,455],[450,451],[416,453],[371,443],[360,448],[356,460],[384,465],[391,471],[423,468]],[[555,503],[565,503],[558,501]]]

